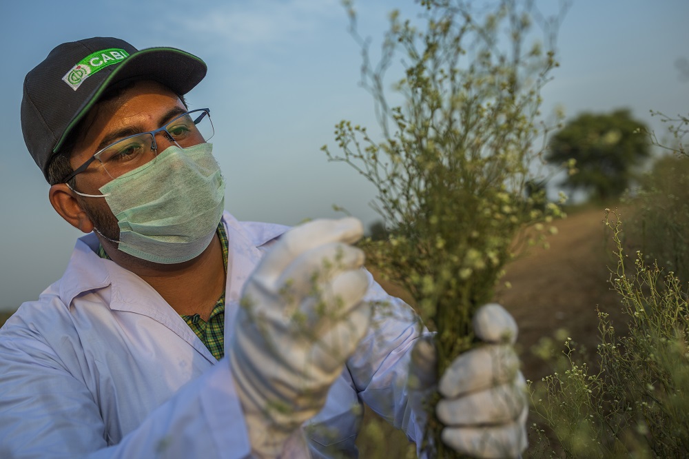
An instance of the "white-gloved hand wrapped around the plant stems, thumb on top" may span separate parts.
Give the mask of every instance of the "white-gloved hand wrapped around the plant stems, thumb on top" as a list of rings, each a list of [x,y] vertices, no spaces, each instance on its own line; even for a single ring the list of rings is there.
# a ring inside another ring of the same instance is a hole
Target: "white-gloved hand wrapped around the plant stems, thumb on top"
[[[446,426],[442,440],[473,458],[517,458],[526,449],[526,380],[513,349],[517,324],[497,304],[484,305],[473,318],[477,338],[486,344],[457,357],[440,378],[435,407]],[[431,383],[435,348],[422,340],[412,351],[418,388]]]

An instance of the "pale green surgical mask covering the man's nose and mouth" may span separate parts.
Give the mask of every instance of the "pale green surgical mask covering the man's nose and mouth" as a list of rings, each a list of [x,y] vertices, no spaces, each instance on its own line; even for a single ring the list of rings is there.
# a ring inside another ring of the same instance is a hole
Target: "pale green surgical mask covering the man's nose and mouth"
[[[106,183],[103,193],[120,228],[118,249],[153,263],[183,263],[211,243],[225,208],[225,179],[210,143],[172,146]]]

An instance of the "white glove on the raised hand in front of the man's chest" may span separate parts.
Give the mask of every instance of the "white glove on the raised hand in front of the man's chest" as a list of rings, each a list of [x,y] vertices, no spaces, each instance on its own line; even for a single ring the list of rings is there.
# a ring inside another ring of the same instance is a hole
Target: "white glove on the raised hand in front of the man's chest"
[[[295,227],[244,287],[227,354],[255,456],[294,442],[367,332],[364,254],[349,245],[362,234],[356,218]]]

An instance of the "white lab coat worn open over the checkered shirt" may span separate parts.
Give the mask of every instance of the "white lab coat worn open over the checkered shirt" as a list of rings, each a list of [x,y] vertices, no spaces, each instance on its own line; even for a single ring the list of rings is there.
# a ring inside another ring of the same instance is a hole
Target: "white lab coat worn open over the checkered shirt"
[[[247,276],[287,228],[227,212],[223,222],[227,343]],[[63,277],[0,329],[0,458],[248,457],[227,358],[216,360],[150,285],[99,258],[97,246],[93,234],[80,238]],[[404,387],[418,323],[372,278],[367,300],[390,305],[305,425],[313,456],[329,457],[328,445],[354,454],[362,401],[421,438]]]

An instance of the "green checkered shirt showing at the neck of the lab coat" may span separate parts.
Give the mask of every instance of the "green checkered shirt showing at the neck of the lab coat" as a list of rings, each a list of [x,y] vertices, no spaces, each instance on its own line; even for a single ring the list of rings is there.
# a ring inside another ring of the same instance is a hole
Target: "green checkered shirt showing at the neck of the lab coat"
[[[227,253],[229,251],[229,243],[227,241],[227,233],[225,233],[225,227],[223,227],[223,222],[218,225],[218,238],[220,238],[220,245],[223,247],[223,266],[225,267],[225,274],[227,274]],[[110,260],[110,257],[105,253],[103,246],[98,247],[98,255],[101,258],[106,258]],[[220,295],[218,301],[216,302],[211,316],[208,321],[200,318],[198,314],[192,316],[181,316],[184,321],[189,325],[201,343],[208,348],[208,350],[213,354],[215,358],[220,360],[225,356],[225,292]]]

